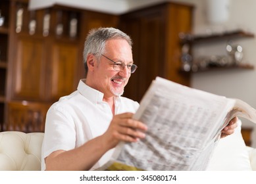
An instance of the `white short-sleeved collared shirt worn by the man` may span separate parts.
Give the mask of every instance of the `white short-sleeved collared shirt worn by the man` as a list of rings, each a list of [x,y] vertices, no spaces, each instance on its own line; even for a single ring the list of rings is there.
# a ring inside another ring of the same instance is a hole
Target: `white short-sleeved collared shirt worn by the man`
[[[103,101],[103,93],[89,87],[80,80],[78,89],[61,97],[48,110],[45,136],[41,150],[41,170],[45,170],[44,158],[55,150],[71,150],[90,139],[105,133],[113,118],[109,104]],[[136,112],[139,103],[125,97],[115,98],[115,114]],[[106,152],[91,168],[103,166],[113,154]]]

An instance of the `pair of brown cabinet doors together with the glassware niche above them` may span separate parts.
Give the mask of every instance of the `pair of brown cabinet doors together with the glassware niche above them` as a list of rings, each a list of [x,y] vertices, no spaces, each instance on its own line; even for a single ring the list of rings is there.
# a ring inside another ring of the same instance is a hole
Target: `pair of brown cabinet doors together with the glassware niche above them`
[[[11,44],[16,47],[12,48],[9,99],[57,101],[74,91],[78,83],[76,70],[82,47],[78,30],[81,12],[61,7],[28,11],[27,3],[16,2],[15,5]],[[70,26],[72,18],[76,21],[74,28]]]

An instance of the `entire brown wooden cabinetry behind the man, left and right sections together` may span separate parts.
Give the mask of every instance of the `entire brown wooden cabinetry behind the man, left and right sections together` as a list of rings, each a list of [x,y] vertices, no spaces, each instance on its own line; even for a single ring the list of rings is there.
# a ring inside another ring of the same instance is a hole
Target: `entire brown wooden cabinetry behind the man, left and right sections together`
[[[7,21],[0,26],[0,131],[44,130],[49,106],[85,77],[82,53],[92,28],[120,28],[134,41],[139,68],[124,96],[140,101],[156,76],[190,85],[178,70],[178,34],[192,29],[190,5],[163,3],[121,16],[57,5],[29,11],[28,0],[1,0],[0,9]]]

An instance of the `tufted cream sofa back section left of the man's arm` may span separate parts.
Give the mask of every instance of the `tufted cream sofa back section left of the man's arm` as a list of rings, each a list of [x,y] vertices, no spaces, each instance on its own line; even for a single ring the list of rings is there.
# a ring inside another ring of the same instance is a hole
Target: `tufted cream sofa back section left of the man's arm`
[[[0,170],[41,170],[43,133],[0,132]]]

